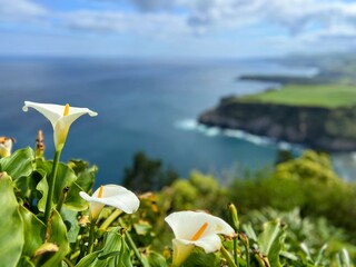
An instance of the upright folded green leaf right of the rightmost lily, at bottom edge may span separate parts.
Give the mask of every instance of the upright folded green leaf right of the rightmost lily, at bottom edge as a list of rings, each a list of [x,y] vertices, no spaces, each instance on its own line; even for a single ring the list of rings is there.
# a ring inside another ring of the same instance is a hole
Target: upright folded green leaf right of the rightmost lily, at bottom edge
[[[263,255],[268,257],[270,266],[281,267],[279,253],[285,238],[285,229],[279,220],[264,224],[264,231],[258,236],[258,247]]]

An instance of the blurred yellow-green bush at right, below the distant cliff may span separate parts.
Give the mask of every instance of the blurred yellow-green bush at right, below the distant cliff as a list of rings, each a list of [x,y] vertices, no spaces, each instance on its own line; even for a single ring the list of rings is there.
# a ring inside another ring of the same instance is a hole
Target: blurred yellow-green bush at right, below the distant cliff
[[[240,211],[273,207],[300,208],[303,216],[323,216],[344,227],[356,238],[356,186],[337,178],[326,155],[307,151],[276,166],[276,171],[258,179],[236,179],[229,198]]]

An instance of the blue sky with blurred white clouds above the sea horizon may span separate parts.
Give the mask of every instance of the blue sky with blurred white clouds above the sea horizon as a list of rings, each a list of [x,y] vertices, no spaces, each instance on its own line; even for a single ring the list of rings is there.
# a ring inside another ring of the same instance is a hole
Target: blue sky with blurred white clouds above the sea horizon
[[[254,58],[356,49],[356,0],[0,0],[0,56]]]

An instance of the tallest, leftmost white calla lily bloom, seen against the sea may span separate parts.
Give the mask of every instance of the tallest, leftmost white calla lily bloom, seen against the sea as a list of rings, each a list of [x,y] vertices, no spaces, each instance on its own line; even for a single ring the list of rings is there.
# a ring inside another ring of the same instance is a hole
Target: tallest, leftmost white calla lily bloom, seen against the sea
[[[59,151],[63,148],[70,125],[77,120],[80,116],[88,113],[93,117],[98,113],[87,108],[75,108],[53,103],[38,103],[24,101],[22,108],[23,111],[28,111],[28,108],[33,108],[42,113],[53,127],[53,139],[56,150]]]

